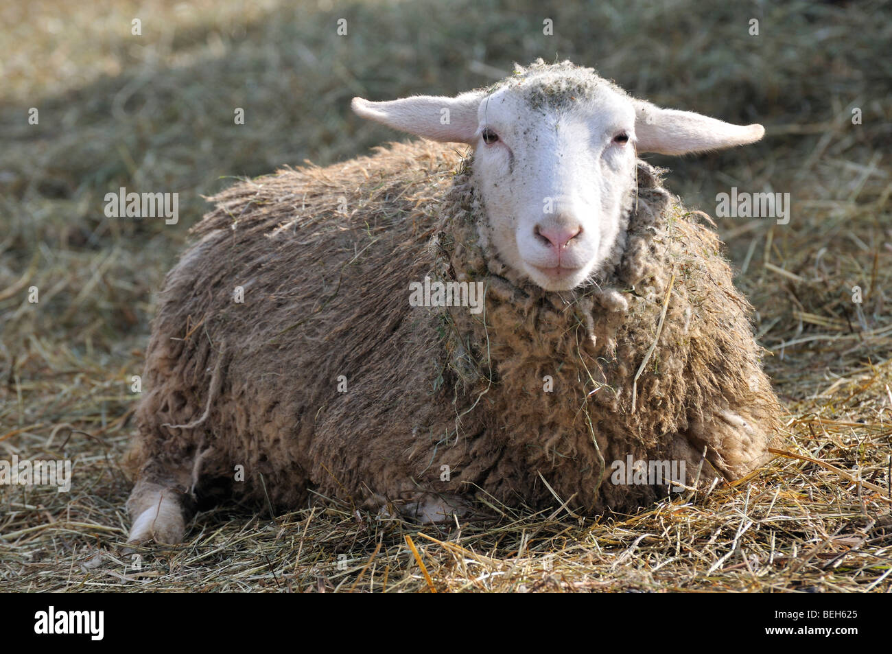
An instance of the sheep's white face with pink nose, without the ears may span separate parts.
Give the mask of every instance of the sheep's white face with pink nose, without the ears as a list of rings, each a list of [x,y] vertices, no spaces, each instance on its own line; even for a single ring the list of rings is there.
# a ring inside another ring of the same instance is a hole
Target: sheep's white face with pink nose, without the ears
[[[566,291],[601,271],[620,234],[635,184],[635,108],[607,85],[558,106],[529,98],[508,86],[480,103],[475,181],[502,260]]]

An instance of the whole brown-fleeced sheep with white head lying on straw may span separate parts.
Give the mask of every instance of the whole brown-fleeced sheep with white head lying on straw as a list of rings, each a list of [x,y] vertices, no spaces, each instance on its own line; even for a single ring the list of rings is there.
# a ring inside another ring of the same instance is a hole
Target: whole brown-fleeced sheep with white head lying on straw
[[[231,186],[166,277],[128,542],[181,542],[227,497],[422,523],[480,498],[596,516],[764,464],[781,408],[752,307],[714,231],[638,158],[761,125],[541,60],[352,107],[422,139]]]

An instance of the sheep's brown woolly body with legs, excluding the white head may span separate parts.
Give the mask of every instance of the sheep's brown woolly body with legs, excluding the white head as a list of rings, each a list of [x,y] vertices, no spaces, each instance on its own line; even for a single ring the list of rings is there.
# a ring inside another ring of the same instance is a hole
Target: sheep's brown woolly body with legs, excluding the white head
[[[630,455],[686,461],[688,484],[705,448],[701,484],[764,461],[780,407],[748,304],[653,169],[612,271],[566,292],[500,261],[464,170],[421,141],[214,198],[153,324],[132,540],[177,541],[178,509],[220,488],[425,519],[479,493],[594,514],[665,496],[611,482]],[[410,306],[425,276],[482,281],[485,311]]]

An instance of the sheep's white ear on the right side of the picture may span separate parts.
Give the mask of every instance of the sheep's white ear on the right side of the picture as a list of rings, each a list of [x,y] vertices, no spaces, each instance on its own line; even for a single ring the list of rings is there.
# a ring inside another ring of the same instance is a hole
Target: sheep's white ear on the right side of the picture
[[[635,101],[635,137],[640,153],[686,154],[755,143],[761,125],[731,125],[699,113],[679,112]]]

